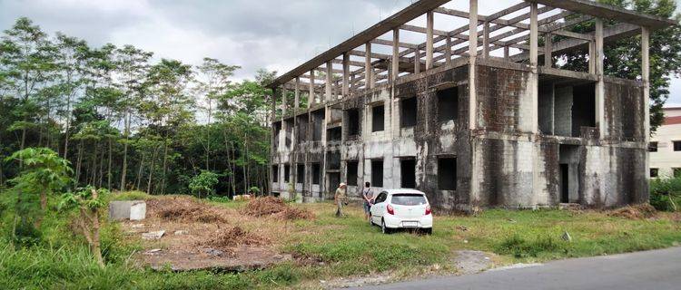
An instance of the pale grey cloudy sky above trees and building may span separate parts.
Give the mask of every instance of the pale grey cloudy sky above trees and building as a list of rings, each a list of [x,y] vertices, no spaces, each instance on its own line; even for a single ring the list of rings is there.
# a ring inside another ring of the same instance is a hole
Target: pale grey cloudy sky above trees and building
[[[280,73],[291,70],[411,2],[0,0],[0,27],[6,29],[17,17],[27,16],[49,33],[60,31],[92,45],[130,43],[155,53],[157,59],[173,58],[192,64],[201,63],[205,56],[217,58],[241,65],[236,78],[243,79],[252,78],[260,68]],[[453,2],[448,6],[468,10],[468,1]],[[492,14],[518,2],[480,1],[479,14]],[[465,24],[457,20],[449,21],[449,25],[443,22],[448,21],[438,22],[436,17],[436,28]],[[668,105],[681,106],[679,79],[672,82]]]

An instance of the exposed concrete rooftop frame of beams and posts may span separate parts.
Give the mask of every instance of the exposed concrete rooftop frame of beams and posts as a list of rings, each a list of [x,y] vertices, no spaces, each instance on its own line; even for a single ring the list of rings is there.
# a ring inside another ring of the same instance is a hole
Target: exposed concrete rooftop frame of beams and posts
[[[356,34],[345,42],[317,55],[310,61],[302,63],[290,72],[282,74],[279,78],[271,82],[270,87],[278,88],[281,85],[284,85],[284,88],[300,89],[301,86],[304,85],[305,87],[312,88],[310,92],[317,93],[319,90],[319,92],[323,93],[329,92],[330,90],[336,90],[341,86],[342,94],[346,94],[350,87],[370,85],[370,83],[380,80],[397,77],[400,73],[404,72],[419,73],[420,71],[441,65],[442,62],[449,63],[453,56],[466,56],[470,51],[469,46],[462,46],[454,50],[452,50],[452,48],[456,45],[469,42],[469,35],[462,33],[468,32],[470,25],[467,24],[452,31],[441,31],[433,28],[433,14],[447,14],[468,19],[473,18],[469,12],[441,7],[449,1],[450,0],[418,1],[402,9],[400,12],[391,15],[387,19],[380,21],[380,23],[371,26],[360,34]],[[588,0],[528,0],[519,3],[518,5],[512,5],[495,14],[476,15],[477,23],[483,25],[482,30],[476,30],[478,39],[477,43],[474,45],[478,48],[478,53],[489,56],[490,51],[503,49],[504,59],[506,60],[513,62],[527,60],[529,56],[528,41],[530,34],[525,33],[530,31],[530,24],[525,24],[523,21],[528,20],[531,17],[531,13],[519,14],[509,19],[503,19],[503,17],[526,9],[531,3],[544,5],[538,7],[538,10],[536,11],[539,16],[555,9],[563,9],[563,11],[558,14],[538,19],[538,34],[560,35],[568,38],[558,43],[550,43],[550,46],[552,46],[552,54],[565,53],[575,49],[585,49],[588,48],[589,45],[593,45],[589,43],[594,43],[594,33],[577,34],[564,29],[571,25],[591,20],[595,17],[614,20],[618,23],[615,26],[605,28],[603,35],[605,42],[638,34],[641,31],[641,27],[646,27],[648,30],[654,30],[676,24],[675,21],[670,19],[640,14],[627,9],[599,4]],[[427,27],[407,24],[423,14],[427,15]],[[576,16],[575,14],[580,15]],[[490,36],[490,34],[506,27],[511,27],[513,29]],[[426,34],[427,41],[424,43],[406,43],[398,40],[396,45],[394,39],[399,39],[400,30]],[[393,31],[393,40],[379,38],[381,35],[387,34],[390,31]],[[441,42],[444,43],[437,47],[434,46],[434,43]],[[366,53],[367,51],[371,51],[371,44],[393,46],[394,53],[393,55],[374,52]],[[357,50],[357,48],[361,46],[365,47],[364,51]],[[470,45],[470,47],[472,47],[472,45]],[[480,47],[481,49],[479,49]],[[517,48],[520,49],[521,52],[509,55],[509,48]],[[400,49],[404,50],[400,51]],[[538,48],[539,55],[544,54],[546,49],[547,47]],[[439,53],[439,55],[435,55],[435,53]],[[351,61],[350,55],[363,57],[365,62]],[[341,59],[339,59],[339,57]],[[424,58],[425,61],[423,60]],[[333,69],[334,63],[340,64],[342,69]],[[327,70],[327,66],[330,67],[329,70]],[[350,71],[350,67],[355,67],[356,69]],[[368,69],[371,70],[369,74],[365,73]],[[340,81],[334,81],[331,80],[331,78],[327,78],[326,80],[323,80],[323,83],[318,82],[315,84],[314,79],[311,79],[310,75],[312,71],[340,73],[343,75],[343,78]],[[380,73],[385,73],[386,75]],[[369,75],[370,78],[369,82],[366,80],[367,75]],[[306,78],[310,81],[307,83],[298,81],[297,85],[290,83],[291,81],[300,80],[300,78]],[[329,82],[328,85],[326,84],[327,82]]]

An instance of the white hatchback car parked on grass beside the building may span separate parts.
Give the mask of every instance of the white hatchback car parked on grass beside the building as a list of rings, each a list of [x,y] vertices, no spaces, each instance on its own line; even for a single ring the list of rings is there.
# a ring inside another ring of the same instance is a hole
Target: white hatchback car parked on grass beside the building
[[[432,234],[433,215],[426,194],[416,189],[386,189],[370,209],[370,224],[384,234],[397,228],[416,228]]]

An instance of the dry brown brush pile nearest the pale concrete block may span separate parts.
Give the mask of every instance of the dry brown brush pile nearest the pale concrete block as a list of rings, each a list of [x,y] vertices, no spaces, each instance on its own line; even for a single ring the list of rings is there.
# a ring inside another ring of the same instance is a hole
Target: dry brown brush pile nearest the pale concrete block
[[[164,220],[191,220],[202,223],[226,222],[224,212],[193,198],[154,198],[146,201],[153,216]]]

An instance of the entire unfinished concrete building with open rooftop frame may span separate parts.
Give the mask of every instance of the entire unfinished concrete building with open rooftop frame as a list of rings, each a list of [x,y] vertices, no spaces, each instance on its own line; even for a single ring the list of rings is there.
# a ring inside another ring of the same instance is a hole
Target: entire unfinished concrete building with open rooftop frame
[[[448,5],[418,1],[271,83],[273,194],[370,181],[462,210],[647,200],[649,34],[673,21],[587,0]],[[604,46],[626,37],[637,80],[604,75]],[[560,69],[574,52],[585,68]]]

